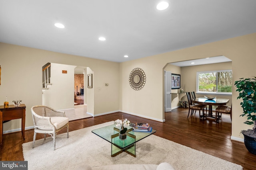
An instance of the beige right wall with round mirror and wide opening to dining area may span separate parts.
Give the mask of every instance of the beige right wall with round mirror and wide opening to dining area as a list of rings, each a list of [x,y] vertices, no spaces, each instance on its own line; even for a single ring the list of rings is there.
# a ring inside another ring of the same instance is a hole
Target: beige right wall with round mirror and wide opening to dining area
[[[224,55],[232,60],[233,84],[242,77],[255,76],[256,33],[190,47],[133,61],[120,63],[120,109],[145,117],[164,120],[164,67],[166,63],[203,59]],[[140,91],[130,88],[128,76],[132,69],[140,67],[146,73],[146,85]],[[181,80],[182,81],[182,80]],[[187,88],[188,85],[186,85]],[[187,90],[187,89],[186,89]],[[252,128],[243,122],[238,92],[233,86],[232,94],[232,139],[240,140],[242,129]]]

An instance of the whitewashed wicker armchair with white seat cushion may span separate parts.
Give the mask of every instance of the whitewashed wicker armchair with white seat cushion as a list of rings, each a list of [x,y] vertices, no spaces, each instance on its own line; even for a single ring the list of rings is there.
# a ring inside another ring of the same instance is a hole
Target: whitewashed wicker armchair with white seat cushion
[[[36,133],[44,133],[44,140],[46,134],[52,136],[55,150],[55,137],[61,129],[67,127],[68,137],[68,117],[64,111],[57,111],[48,106],[33,106],[31,108],[33,122],[34,122],[34,139],[32,148],[36,141]]]

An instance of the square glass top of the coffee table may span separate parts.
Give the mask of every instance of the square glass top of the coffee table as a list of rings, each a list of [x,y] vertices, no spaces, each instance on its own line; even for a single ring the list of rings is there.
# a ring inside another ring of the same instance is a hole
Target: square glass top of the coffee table
[[[109,125],[106,127],[101,127],[99,129],[92,130],[92,133],[98,135],[102,139],[105,139],[106,141],[108,141],[112,144],[118,145],[120,148],[126,148],[126,147],[144,139],[145,137],[148,137],[148,136],[152,135],[153,133],[156,133],[156,131],[154,129],[152,129],[152,133],[142,133],[142,132],[130,131],[130,132],[128,132],[125,140],[122,141],[121,139],[119,139],[118,135],[116,135],[116,137],[114,137],[114,140],[113,140],[113,138],[111,138],[111,136],[113,137],[113,135],[119,133],[118,131],[114,130],[114,127],[116,127],[115,124]],[[128,129],[128,131],[129,131],[129,129],[132,130],[132,127],[128,126],[127,129]]]

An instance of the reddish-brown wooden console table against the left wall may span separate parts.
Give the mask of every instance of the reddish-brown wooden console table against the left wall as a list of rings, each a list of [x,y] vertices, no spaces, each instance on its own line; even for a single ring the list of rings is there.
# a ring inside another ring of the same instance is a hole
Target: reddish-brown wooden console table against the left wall
[[[0,106],[0,145],[2,145],[2,135],[3,135],[3,121],[8,121],[12,119],[21,119],[21,132],[23,140],[25,139],[25,117],[26,117],[26,105],[20,104],[19,107],[14,105],[9,105],[9,108],[4,108]]]

